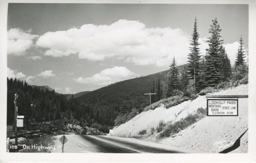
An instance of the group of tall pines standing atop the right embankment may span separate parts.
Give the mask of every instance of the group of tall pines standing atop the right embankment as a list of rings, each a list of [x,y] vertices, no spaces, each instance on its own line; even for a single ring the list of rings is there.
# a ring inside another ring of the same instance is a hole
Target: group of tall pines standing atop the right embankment
[[[210,37],[207,38],[208,49],[206,49],[206,54],[200,55],[199,33],[197,32],[197,19],[195,19],[187,64],[180,73],[176,68],[175,57],[170,65],[167,97],[176,95],[177,90],[189,91],[190,93],[193,91],[196,94],[206,87],[213,87],[231,79],[240,80],[248,76],[248,65],[246,65],[244,59],[245,51],[242,37],[240,38],[235,65],[231,67],[228,54],[222,45],[224,40],[220,32],[220,25],[217,18],[215,18],[210,25]]]

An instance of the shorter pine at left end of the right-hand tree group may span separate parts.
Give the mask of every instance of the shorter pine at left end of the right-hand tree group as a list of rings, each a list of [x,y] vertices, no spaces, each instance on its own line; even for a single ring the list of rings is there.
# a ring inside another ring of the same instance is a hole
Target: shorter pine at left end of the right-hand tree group
[[[179,72],[176,66],[175,57],[173,57],[172,63],[170,65],[167,97],[173,96],[173,93],[174,93],[173,91],[179,89],[178,75],[179,75]]]

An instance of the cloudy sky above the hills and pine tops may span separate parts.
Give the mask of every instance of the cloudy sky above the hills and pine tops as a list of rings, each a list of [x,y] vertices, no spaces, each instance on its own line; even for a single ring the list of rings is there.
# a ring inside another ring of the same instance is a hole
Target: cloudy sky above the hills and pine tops
[[[200,52],[217,17],[231,64],[248,50],[248,5],[8,5],[7,76],[63,94],[92,91],[187,62],[197,18]]]

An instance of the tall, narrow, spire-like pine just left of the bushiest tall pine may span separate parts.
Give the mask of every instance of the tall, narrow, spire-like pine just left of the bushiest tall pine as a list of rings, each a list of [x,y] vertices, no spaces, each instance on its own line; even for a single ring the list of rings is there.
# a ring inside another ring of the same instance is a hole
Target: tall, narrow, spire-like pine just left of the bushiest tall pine
[[[188,63],[187,63],[189,79],[193,79],[194,81],[194,92],[197,92],[197,87],[199,86],[198,72],[199,72],[199,64],[201,60],[201,55],[199,55],[200,50],[198,47],[200,43],[198,43],[198,39],[199,39],[199,34],[197,32],[197,19],[195,19],[192,40],[190,42],[191,46],[189,47],[190,53],[188,54]]]

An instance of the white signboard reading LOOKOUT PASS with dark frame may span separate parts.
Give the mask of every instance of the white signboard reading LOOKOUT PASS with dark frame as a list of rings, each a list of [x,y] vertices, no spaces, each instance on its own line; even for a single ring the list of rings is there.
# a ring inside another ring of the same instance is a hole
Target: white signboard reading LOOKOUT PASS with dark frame
[[[238,100],[207,99],[207,116],[238,116]]]

